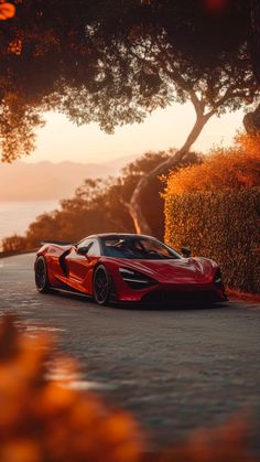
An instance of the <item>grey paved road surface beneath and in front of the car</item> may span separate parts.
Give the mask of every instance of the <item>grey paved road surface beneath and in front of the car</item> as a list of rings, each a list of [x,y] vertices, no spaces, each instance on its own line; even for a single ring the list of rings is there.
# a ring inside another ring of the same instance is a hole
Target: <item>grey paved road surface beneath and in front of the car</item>
[[[59,348],[80,361],[87,385],[131,409],[155,441],[183,439],[241,409],[258,420],[259,305],[99,308],[75,297],[39,294],[33,261],[33,255],[0,259],[0,313],[18,313],[29,330],[57,331]]]

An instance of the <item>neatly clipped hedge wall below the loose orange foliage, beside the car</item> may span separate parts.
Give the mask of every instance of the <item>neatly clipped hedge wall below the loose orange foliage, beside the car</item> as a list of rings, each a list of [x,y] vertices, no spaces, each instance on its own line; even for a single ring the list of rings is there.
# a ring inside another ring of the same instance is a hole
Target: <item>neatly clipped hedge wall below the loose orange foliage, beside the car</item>
[[[165,241],[217,261],[232,289],[260,291],[260,187],[165,198]]]

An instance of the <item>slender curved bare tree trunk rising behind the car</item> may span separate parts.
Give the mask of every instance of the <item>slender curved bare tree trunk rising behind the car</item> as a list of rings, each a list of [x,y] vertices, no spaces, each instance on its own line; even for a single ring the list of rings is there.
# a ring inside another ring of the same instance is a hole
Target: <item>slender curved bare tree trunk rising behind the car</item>
[[[131,201],[128,204],[128,209],[129,213],[132,217],[134,227],[137,233],[139,234],[148,234],[151,235],[152,230],[151,227],[149,226],[142,208],[141,208],[141,196],[143,194],[143,192],[145,191],[145,189],[148,187],[149,183],[154,179],[158,178],[162,174],[167,174],[170,172],[170,170],[172,170],[173,168],[175,168],[177,164],[180,164],[180,162],[182,162],[183,160],[188,160],[188,153],[189,153],[189,149],[192,147],[192,144],[196,141],[197,137],[199,136],[203,127],[205,126],[205,123],[207,122],[207,120],[210,118],[213,114],[206,114],[206,115],[197,115],[196,121],[194,123],[194,127],[191,131],[191,133],[188,135],[185,143],[183,144],[183,147],[175,152],[175,154],[167,159],[166,161],[162,162],[160,165],[158,165],[154,170],[152,170],[150,173],[144,174],[138,182]]]

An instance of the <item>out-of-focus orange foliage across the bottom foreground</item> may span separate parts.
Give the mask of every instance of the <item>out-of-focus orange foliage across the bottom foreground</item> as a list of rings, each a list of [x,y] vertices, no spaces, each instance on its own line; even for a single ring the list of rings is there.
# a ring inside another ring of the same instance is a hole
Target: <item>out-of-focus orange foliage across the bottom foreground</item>
[[[131,416],[69,388],[77,366],[71,358],[57,359],[50,336],[29,336],[17,324],[12,316],[0,322],[1,462],[257,461],[246,449],[243,419],[149,452],[148,439]],[[59,380],[52,378],[53,369]]]

